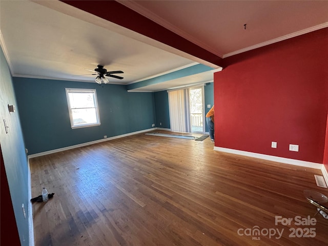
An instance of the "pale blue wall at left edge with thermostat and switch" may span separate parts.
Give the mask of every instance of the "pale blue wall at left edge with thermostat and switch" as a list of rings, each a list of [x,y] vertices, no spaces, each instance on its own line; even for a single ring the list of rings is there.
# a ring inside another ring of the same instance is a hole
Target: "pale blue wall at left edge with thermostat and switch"
[[[3,50],[0,50],[0,143],[20,243],[22,245],[29,245],[28,204],[30,201],[28,198],[27,158],[22,128],[20,127],[19,109],[16,107],[16,112],[11,114],[8,111],[8,104],[15,106],[17,104],[9,67]],[[9,127],[7,134],[4,127],[4,119]],[[2,173],[1,175],[4,174]],[[22,212],[23,203],[27,215],[26,219]],[[1,226],[6,225],[2,224]]]

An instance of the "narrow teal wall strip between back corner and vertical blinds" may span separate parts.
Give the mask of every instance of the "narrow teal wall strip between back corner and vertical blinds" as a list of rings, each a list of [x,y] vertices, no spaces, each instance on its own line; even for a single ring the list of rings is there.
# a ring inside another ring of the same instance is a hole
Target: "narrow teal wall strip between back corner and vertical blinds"
[[[169,96],[167,91],[154,93],[156,127],[170,129]],[[160,123],[162,125],[160,125]]]

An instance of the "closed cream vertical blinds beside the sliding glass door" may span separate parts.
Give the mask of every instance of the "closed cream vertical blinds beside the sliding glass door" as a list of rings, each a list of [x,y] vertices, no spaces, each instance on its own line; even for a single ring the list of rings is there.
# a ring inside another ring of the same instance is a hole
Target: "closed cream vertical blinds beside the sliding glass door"
[[[189,89],[169,91],[170,123],[173,132],[190,132]]]

